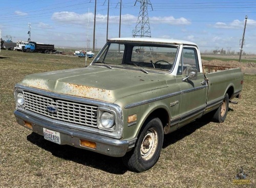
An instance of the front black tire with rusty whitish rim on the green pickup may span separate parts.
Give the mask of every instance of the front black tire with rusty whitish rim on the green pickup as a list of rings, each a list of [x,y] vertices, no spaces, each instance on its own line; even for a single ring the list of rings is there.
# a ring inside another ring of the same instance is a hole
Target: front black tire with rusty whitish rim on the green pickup
[[[152,168],[163,146],[163,125],[160,119],[151,118],[144,125],[133,150],[122,157],[124,165],[135,172]]]

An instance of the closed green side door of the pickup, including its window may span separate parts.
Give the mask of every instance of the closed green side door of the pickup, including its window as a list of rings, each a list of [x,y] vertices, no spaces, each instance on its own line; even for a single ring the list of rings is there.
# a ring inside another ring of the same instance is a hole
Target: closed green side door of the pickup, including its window
[[[207,82],[202,73],[198,51],[194,47],[183,47],[176,80],[180,85],[180,123],[181,127],[200,117],[206,107]],[[187,78],[191,72],[193,78]],[[187,78],[187,79],[185,79]]]

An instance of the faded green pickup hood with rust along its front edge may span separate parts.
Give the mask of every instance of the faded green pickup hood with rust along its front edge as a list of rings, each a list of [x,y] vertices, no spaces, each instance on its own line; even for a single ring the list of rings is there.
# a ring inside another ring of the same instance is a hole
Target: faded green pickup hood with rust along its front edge
[[[20,84],[110,103],[135,93],[167,87],[159,74],[93,65],[28,75]]]

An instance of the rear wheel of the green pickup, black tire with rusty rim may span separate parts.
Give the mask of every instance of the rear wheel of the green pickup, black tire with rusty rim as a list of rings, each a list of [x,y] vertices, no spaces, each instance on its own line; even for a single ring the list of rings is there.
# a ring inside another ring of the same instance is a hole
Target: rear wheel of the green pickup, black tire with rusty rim
[[[214,117],[212,118],[214,122],[222,123],[225,121],[228,112],[228,104],[229,98],[228,94],[226,93],[223,102],[221,103],[220,107],[217,109],[217,111],[214,114]]]

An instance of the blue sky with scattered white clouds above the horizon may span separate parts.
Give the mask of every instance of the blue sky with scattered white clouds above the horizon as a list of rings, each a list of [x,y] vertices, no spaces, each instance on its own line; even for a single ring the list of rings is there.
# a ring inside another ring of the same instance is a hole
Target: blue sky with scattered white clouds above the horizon
[[[142,1],[122,0],[121,37],[132,37]],[[255,0],[147,2],[152,37],[193,41],[201,52],[240,52],[247,15],[243,50],[256,54]],[[96,5],[95,48],[99,49],[106,41],[108,0],[97,0]],[[92,49],[94,12],[95,0],[0,1],[2,38],[27,41],[30,30],[31,41],[59,48]],[[119,36],[119,16],[120,0],[110,0],[108,38]]]

